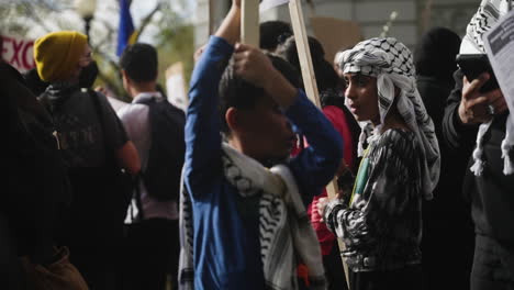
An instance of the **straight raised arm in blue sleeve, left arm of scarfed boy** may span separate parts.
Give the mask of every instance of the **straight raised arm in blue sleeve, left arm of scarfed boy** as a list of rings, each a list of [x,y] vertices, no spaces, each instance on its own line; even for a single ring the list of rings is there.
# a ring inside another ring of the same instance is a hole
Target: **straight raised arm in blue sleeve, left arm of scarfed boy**
[[[239,38],[241,8],[234,0],[222,25],[200,56],[190,83],[186,121],[186,176],[190,183],[205,185],[209,172],[221,166],[217,87],[234,43]],[[206,185],[205,185],[206,186]],[[193,191],[204,192],[204,191]]]

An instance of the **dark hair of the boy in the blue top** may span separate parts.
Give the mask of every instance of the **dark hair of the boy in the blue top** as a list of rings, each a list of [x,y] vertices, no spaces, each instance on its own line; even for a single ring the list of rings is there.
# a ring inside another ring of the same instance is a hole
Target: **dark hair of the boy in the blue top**
[[[278,56],[268,54],[273,67],[282,74],[282,76],[295,88],[300,86],[300,74],[294,67]],[[234,63],[231,60],[219,87],[220,92],[220,118],[221,130],[223,133],[228,133],[230,129],[225,121],[225,113],[228,108],[239,110],[252,110],[256,107],[258,100],[262,98],[265,91],[262,88],[255,87],[241,77],[236,76]]]

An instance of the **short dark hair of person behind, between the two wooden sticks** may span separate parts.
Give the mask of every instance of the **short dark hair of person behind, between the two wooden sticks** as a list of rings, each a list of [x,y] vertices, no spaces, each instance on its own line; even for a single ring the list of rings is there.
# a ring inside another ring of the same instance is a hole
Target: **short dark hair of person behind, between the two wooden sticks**
[[[260,48],[271,52],[275,52],[282,42],[293,34],[291,25],[279,20],[260,23],[259,31]]]

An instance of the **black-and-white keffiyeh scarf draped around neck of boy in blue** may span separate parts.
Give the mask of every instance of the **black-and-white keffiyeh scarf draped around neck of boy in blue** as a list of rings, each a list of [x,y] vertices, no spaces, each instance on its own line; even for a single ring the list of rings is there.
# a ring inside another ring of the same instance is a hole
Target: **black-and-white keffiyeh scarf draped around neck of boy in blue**
[[[259,200],[260,255],[266,289],[298,289],[297,266],[309,269],[310,289],[326,289],[321,249],[294,177],[287,166],[267,169],[255,159],[223,144],[226,180],[241,197]],[[180,193],[179,288],[194,289],[192,207],[183,187]]]

